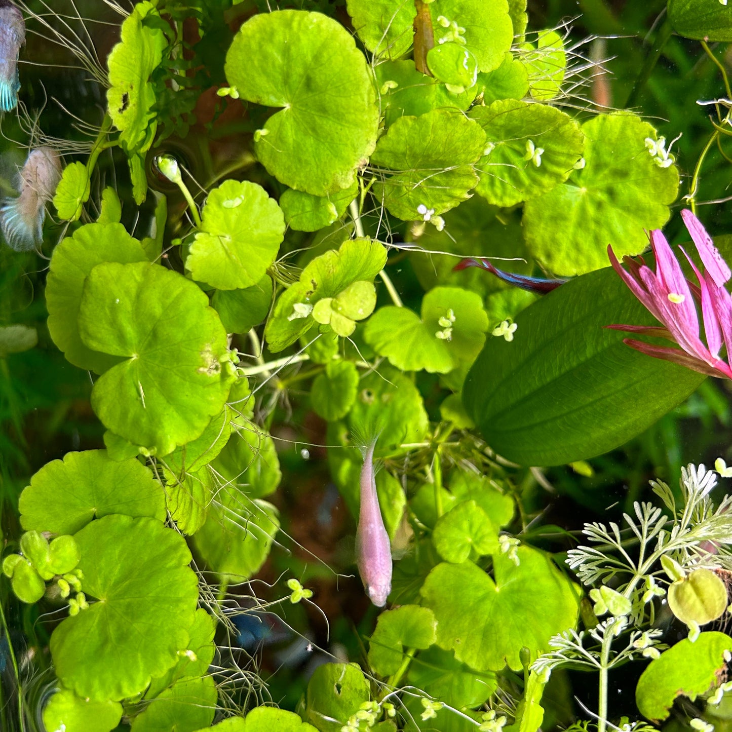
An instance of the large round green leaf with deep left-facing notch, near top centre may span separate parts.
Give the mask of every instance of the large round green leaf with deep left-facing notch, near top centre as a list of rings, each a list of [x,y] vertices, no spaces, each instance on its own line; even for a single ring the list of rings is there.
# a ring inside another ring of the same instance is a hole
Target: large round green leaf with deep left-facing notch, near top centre
[[[337,20],[302,10],[254,15],[225,71],[242,99],[281,108],[255,142],[270,174],[313,195],[353,184],[376,144],[379,112],[366,59]]]

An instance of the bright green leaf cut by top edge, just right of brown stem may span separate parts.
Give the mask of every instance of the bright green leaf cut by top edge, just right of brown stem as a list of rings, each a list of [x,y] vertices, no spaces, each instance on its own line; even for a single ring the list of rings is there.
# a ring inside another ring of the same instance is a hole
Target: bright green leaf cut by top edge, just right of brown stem
[[[513,42],[513,25],[506,0],[436,0],[429,4],[435,45],[455,41],[456,29],[460,44],[470,51],[479,71],[492,71],[501,65],[504,53]],[[447,27],[438,22],[443,17]],[[455,25],[453,25],[455,23]]]

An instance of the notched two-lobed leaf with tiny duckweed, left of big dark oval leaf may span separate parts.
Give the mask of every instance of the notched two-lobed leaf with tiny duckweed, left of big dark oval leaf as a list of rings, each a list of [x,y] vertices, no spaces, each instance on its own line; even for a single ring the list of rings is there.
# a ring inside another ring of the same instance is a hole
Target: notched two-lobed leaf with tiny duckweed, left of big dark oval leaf
[[[478,355],[487,329],[480,296],[438,287],[422,300],[422,318],[404,307],[382,307],[366,324],[364,338],[404,371],[448,373]]]

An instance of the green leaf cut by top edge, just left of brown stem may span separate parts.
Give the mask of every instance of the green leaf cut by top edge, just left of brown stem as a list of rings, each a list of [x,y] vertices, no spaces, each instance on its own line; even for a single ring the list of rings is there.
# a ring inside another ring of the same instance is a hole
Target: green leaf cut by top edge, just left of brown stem
[[[356,34],[374,56],[398,59],[411,48],[417,15],[412,0],[346,0],[346,9]]]

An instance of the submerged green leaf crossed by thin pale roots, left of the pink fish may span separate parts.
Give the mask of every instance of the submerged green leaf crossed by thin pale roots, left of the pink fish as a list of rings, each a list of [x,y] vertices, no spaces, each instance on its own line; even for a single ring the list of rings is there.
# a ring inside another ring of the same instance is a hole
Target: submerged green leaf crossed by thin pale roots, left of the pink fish
[[[193,545],[211,572],[242,582],[261,569],[279,529],[272,504],[228,485],[217,492]]]

